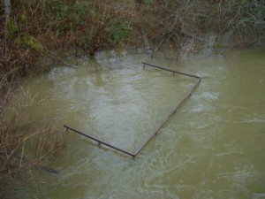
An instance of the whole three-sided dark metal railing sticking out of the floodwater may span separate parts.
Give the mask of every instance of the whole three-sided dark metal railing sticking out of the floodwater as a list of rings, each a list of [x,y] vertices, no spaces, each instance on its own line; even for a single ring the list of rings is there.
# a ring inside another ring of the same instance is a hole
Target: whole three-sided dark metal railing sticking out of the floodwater
[[[66,131],[71,130],[72,132],[74,132],[76,134],[81,134],[81,135],[83,135],[83,136],[85,136],[85,137],[87,137],[87,138],[89,138],[89,139],[91,139],[91,140],[93,140],[95,142],[98,142],[99,145],[105,145],[107,147],[110,147],[111,149],[116,149],[117,151],[122,152],[122,153],[124,153],[126,155],[129,155],[131,157],[136,157],[140,153],[141,149],[143,149],[148,144],[148,142],[150,142],[152,140],[152,138],[158,133],[158,131],[170,119],[170,117],[176,111],[178,111],[179,107],[183,103],[185,103],[186,100],[190,96],[192,96],[194,90],[201,83],[201,77],[196,76],[196,75],[193,75],[193,74],[181,73],[181,72],[178,72],[178,71],[170,70],[168,68],[164,68],[162,66],[152,65],[152,64],[145,63],[145,62],[142,62],[142,64],[143,64],[143,67],[145,67],[146,65],[148,65],[148,66],[155,67],[155,68],[158,68],[158,69],[161,69],[161,70],[164,70],[164,71],[168,71],[168,72],[173,73],[173,74],[178,73],[178,74],[185,75],[185,76],[188,76],[188,77],[191,77],[191,78],[195,78],[195,79],[197,79],[197,82],[193,85],[193,88],[186,93],[186,96],[180,101],[180,103],[177,104],[177,106],[174,108],[174,110],[173,111],[170,111],[170,113],[163,119],[163,121],[160,123],[160,125],[155,128],[155,130],[152,132],[152,134],[150,134],[150,136],[148,137],[148,139],[140,145],[140,148],[139,149],[137,149],[134,153],[133,152],[129,152],[129,151],[125,150],[125,149],[120,149],[120,148],[118,148],[118,147],[116,147],[116,146],[114,146],[114,145],[112,145],[112,144],[110,144],[108,142],[103,142],[103,141],[101,141],[101,140],[99,140],[99,139],[97,139],[97,138],[95,138],[95,137],[93,137],[91,135],[84,134],[84,133],[80,132],[79,130],[74,129],[74,128],[70,127],[70,126],[64,125],[64,127],[66,128]]]

